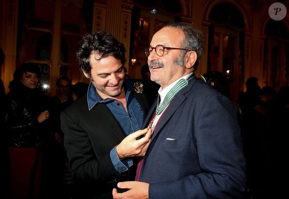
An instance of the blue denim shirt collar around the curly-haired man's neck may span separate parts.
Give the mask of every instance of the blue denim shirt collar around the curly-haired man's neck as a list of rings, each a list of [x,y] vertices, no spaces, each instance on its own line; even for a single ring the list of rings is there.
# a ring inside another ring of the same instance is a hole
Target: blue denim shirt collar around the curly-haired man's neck
[[[126,100],[128,101],[128,98],[133,91],[133,84],[130,81],[124,82],[124,88],[126,93]],[[88,104],[88,110],[90,111],[97,103],[105,103],[108,101],[113,100],[112,98],[102,99],[99,94],[97,93],[93,83],[91,82],[88,87],[87,92],[87,104]]]

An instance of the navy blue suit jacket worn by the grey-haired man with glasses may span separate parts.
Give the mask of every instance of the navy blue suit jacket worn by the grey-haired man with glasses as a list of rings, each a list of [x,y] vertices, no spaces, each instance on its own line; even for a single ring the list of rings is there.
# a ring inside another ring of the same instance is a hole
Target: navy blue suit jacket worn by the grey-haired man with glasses
[[[140,181],[149,183],[149,199],[240,199],[245,170],[231,101],[193,78],[170,102],[146,151]]]

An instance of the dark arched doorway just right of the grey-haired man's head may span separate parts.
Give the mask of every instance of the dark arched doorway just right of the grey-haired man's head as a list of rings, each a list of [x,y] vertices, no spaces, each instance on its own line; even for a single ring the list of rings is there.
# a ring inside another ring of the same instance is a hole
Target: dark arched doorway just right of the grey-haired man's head
[[[244,82],[245,21],[231,3],[216,4],[209,15],[208,68],[227,77],[230,98],[237,100]]]

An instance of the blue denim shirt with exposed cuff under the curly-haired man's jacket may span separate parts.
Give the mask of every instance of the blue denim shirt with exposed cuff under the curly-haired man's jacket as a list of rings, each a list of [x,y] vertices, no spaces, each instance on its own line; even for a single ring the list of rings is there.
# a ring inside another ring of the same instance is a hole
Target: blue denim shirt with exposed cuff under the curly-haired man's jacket
[[[87,102],[89,110],[91,110],[97,103],[106,104],[106,106],[115,116],[116,120],[120,123],[123,131],[126,133],[126,135],[129,135],[141,129],[144,121],[144,111],[136,98],[134,98],[134,95],[132,93],[132,83],[125,81],[124,88],[126,92],[128,112],[125,111],[125,108],[118,100],[112,98],[102,99],[96,92],[96,89],[92,83],[90,83],[88,88]],[[111,150],[110,157],[115,169],[119,173],[124,173],[128,171],[128,168],[133,165],[132,159],[124,159],[122,161],[119,159],[116,152],[116,147]]]

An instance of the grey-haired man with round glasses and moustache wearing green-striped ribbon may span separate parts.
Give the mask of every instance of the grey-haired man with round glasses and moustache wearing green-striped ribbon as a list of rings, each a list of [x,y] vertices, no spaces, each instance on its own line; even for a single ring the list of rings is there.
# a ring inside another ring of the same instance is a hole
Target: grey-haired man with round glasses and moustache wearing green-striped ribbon
[[[114,189],[114,199],[244,197],[246,163],[233,105],[195,77],[202,42],[191,24],[170,23],[145,49],[150,79],[160,85],[142,127],[151,128],[151,140],[136,181],[118,183],[128,191]]]

